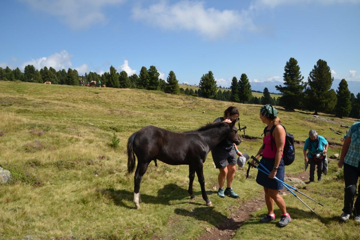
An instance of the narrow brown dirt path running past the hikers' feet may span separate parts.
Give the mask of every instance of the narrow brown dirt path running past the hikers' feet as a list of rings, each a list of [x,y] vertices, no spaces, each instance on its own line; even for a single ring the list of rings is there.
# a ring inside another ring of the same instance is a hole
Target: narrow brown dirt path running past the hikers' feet
[[[309,179],[309,171],[301,172],[298,175],[294,176],[291,174],[285,174],[287,177],[296,177],[300,178],[303,181]],[[279,191],[280,194],[285,194],[288,191],[285,189]],[[255,200],[250,200],[242,204],[238,210],[231,214],[228,219],[225,219],[220,223],[219,226],[213,228],[207,228],[206,234],[200,236],[198,240],[229,240],[235,235],[235,232],[243,225],[243,223],[248,220],[251,216],[251,213],[260,210],[265,205],[265,200],[263,195],[259,196]]]

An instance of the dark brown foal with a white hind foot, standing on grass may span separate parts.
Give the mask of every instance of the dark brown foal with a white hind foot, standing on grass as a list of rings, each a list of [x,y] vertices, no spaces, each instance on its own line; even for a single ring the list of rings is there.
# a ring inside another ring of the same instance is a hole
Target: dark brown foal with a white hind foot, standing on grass
[[[240,144],[241,138],[235,127],[234,120],[231,123],[210,123],[198,130],[189,132],[172,132],[154,126],[146,126],[132,133],[127,141],[127,172],[134,172],[135,154],[138,158],[134,176],[134,203],[140,208],[140,182],[145,174],[149,163],[156,159],[170,165],[189,165],[189,190],[191,198],[193,194],[193,181],[195,172],[201,186],[202,198],[206,204],[212,207],[205,191],[203,164],[210,150],[226,139],[236,145]]]

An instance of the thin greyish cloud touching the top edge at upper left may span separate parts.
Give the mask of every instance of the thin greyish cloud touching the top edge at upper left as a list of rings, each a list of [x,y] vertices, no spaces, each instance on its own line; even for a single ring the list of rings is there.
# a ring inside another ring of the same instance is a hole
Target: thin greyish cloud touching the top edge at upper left
[[[95,23],[105,23],[102,7],[117,5],[125,0],[22,0],[33,9],[58,17],[73,29],[89,27]]]

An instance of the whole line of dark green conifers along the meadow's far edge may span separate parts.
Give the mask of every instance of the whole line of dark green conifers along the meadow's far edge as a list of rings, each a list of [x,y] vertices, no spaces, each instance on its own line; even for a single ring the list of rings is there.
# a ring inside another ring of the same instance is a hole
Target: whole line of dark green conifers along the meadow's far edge
[[[101,81],[107,87],[114,88],[137,88],[147,90],[159,90],[170,94],[186,94],[200,96],[222,101],[233,101],[248,104],[272,104],[280,105],[287,110],[302,109],[335,114],[338,117],[360,118],[360,93],[356,96],[348,90],[345,79],[341,80],[338,89],[331,89],[334,78],[331,76],[330,67],[327,62],[319,59],[309,73],[307,82],[303,82],[298,62],[290,58],[284,67],[284,86],[275,86],[281,92],[278,99],[271,98],[269,90],[265,87],[263,96],[260,98],[252,96],[251,85],[245,73],[241,74],[239,80],[233,77],[230,90],[218,89],[212,71],[203,74],[200,78],[199,89],[179,88],[179,82],[173,71],[170,71],[166,81],[159,78],[160,74],[155,66],[149,69],[141,67],[139,75],[128,76],[125,71],[120,73],[111,66],[109,72],[99,75],[95,72],[85,73],[79,76],[76,69],[68,68],[56,71],[52,67],[44,67],[37,70],[33,65],[27,65],[22,73],[19,68],[5,69],[0,67],[0,80],[20,80],[24,82],[44,83],[50,81],[52,84],[80,85],[80,80],[86,82]]]

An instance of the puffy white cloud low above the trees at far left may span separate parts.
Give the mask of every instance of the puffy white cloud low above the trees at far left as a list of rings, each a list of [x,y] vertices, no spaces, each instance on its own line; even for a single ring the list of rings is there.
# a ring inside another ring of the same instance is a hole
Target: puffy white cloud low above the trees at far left
[[[60,53],[54,53],[48,57],[42,57],[38,59],[31,59],[28,62],[24,62],[21,65],[21,70],[24,70],[26,65],[33,65],[36,69],[41,69],[46,67],[53,67],[56,70],[60,70],[63,68],[71,67],[71,58],[72,56],[68,54],[67,51],[62,50]]]

